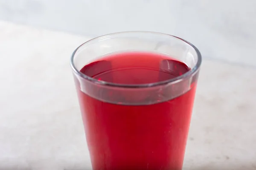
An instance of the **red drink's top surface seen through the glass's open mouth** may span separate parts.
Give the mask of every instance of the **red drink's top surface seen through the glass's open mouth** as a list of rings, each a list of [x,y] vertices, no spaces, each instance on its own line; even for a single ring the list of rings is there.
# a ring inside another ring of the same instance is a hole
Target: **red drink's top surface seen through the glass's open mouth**
[[[92,62],[81,72],[98,80],[120,84],[146,84],[180,76],[190,68],[183,62],[154,53],[115,54]]]

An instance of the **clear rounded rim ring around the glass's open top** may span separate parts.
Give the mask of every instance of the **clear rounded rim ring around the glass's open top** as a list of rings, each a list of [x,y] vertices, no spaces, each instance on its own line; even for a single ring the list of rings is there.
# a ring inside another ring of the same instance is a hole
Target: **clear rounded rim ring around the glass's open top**
[[[189,71],[187,71],[185,74],[182,74],[180,76],[177,76],[175,78],[172,78],[172,79],[167,79],[167,80],[164,80],[164,81],[159,81],[159,82],[152,82],[152,83],[145,83],[145,84],[121,84],[121,83],[113,83],[113,82],[107,82],[107,81],[102,81],[102,80],[98,80],[98,79],[94,79],[93,77],[89,77],[87,76],[86,74],[83,74],[81,73],[75,66],[75,63],[74,63],[74,58],[75,58],[75,55],[76,55],[76,52],[84,45],[84,44],[87,44],[87,43],[90,43],[91,41],[93,40],[96,40],[96,39],[102,39],[104,37],[108,37],[108,36],[112,36],[112,35],[117,35],[117,34],[125,34],[125,33],[150,33],[150,34],[160,34],[160,35],[164,35],[164,36],[169,36],[169,37],[174,37],[174,38],[177,38],[179,40],[182,40],[183,42],[186,42],[186,44],[190,45],[196,52],[197,56],[198,56],[198,60],[197,60],[197,63],[196,65]],[[169,83],[175,83],[175,82],[180,82],[182,81],[183,79],[186,79],[187,77],[190,77],[191,75],[195,74],[198,69],[200,68],[200,65],[201,65],[201,62],[202,62],[202,56],[201,56],[201,53],[200,51],[198,50],[198,48],[195,47],[195,45],[193,45],[192,43],[186,41],[186,40],[183,40],[182,38],[180,37],[176,37],[176,36],[173,36],[173,35],[170,35],[170,34],[164,34],[164,33],[160,33],[160,32],[154,32],[154,31],[122,31],[122,32],[116,32],[116,33],[111,33],[111,34],[105,34],[105,35],[102,35],[102,36],[99,36],[99,37],[95,37],[91,40],[88,40],[84,43],[82,43],[81,45],[79,45],[79,47],[77,47],[75,49],[75,51],[73,52],[73,54],[71,55],[71,59],[70,59],[70,65],[71,65],[71,68],[72,70],[74,71],[75,74],[79,75],[80,77],[84,78],[84,79],[87,79],[88,81],[90,82],[93,82],[95,84],[99,84],[99,85],[105,85],[105,86],[112,86],[112,87],[117,87],[117,88],[148,88],[148,87],[154,87],[154,86],[159,86],[159,85],[166,85],[166,84],[169,84]]]

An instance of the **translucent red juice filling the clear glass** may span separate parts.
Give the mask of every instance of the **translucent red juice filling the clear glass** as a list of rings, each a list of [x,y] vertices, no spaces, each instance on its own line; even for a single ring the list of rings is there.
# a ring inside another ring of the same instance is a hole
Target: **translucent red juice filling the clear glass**
[[[183,62],[165,55],[130,52],[102,57],[85,65],[81,72],[99,81],[136,85],[172,79],[189,70]],[[116,99],[108,102],[80,89],[79,102],[93,170],[182,169],[195,85],[180,96],[168,101],[156,99],[149,105],[118,101],[134,99],[129,93],[104,93],[107,98]],[[155,96],[142,95],[137,100]]]

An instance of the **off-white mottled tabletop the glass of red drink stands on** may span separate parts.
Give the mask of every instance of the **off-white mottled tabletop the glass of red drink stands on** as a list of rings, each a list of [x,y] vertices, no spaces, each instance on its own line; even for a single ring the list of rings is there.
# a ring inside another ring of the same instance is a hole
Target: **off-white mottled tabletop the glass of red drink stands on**
[[[0,22],[0,170],[90,169],[69,65],[89,39]],[[184,170],[256,170],[255,77],[203,60]]]

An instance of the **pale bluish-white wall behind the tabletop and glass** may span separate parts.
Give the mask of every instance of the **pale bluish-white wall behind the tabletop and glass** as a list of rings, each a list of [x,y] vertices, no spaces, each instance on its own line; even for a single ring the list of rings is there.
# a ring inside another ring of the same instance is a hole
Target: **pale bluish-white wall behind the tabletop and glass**
[[[0,19],[89,37],[158,31],[209,59],[256,65],[256,0],[0,0]]]

